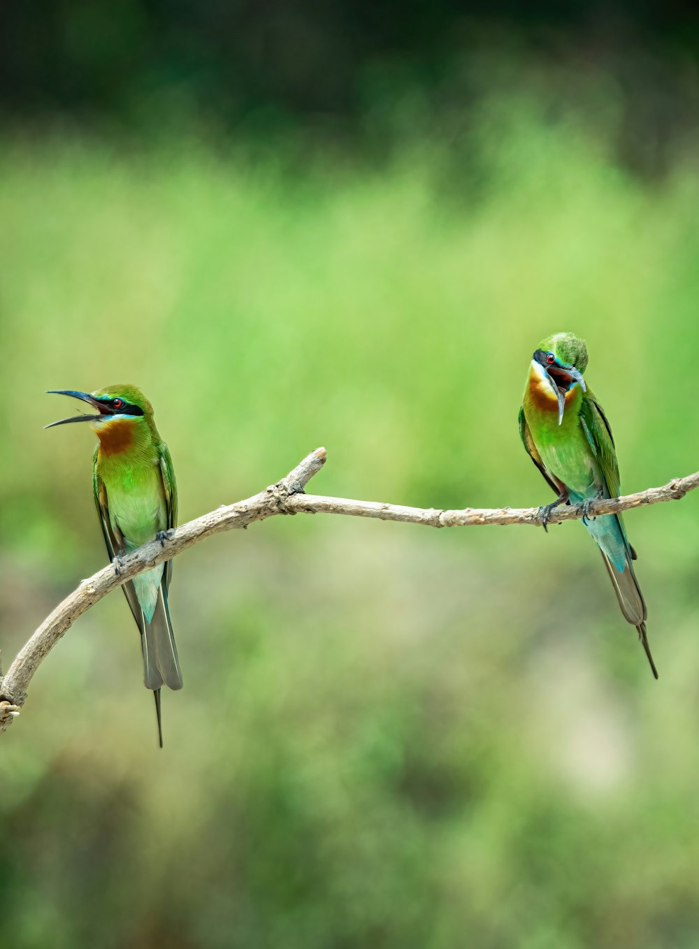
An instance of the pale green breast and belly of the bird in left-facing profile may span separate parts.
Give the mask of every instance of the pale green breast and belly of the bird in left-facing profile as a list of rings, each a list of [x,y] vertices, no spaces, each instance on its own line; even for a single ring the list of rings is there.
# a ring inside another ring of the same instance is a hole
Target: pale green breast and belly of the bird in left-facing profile
[[[167,527],[161,476],[156,468],[123,467],[116,476],[105,473],[109,520],[127,548],[140,547]]]

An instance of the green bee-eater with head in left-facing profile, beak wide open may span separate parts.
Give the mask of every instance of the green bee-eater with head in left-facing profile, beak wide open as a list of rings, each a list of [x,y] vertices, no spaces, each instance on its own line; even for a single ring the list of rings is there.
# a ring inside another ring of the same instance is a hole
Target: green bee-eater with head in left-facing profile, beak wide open
[[[115,569],[119,558],[158,539],[178,520],[178,490],[172,458],[153,418],[153,406],[135,385],[109,385],[96,392],[52,389],[82,399],[97,415],[79,415],[53,425],[86,421],[99,438],[93,464],[95,504],[104,543]],[[141,631],[143,682],[153,689],[162,748],[161,686],[181,689],[178,650],[167,606],[172,562],[146,570],[123,585]]]

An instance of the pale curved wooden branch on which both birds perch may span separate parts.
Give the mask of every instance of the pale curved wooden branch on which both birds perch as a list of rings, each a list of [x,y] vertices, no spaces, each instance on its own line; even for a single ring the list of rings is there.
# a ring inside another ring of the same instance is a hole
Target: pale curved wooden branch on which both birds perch
[[[103,599],[117,586],[122,586],[138,573],[167,560],[213,534],[232,528],[247,528],[255,521],[263,521],[275,514],[344,514],[350,517],[370,517],[382,521],[401,521],[407,524],[425,524],[428,527],[473,527],[486,524],[530,524],[542,526],[540,508],[464,508],[444,511],[435,508],[409,508],[378,501],[355,501],[345,497],[324,497],[306,494],[304,488],[326,461],[324,448],[316,448],[290,474],[265,491],[235,504],[221,505],[216,511],[202,514],[168,533],[164,545],[157,540],[145,544],[124,557],[119,572],[114,565],[99,570],[73,590],[63,603],[33,633],[5,677],[0,674],[0,732],[5,731],[27,698],[27,687],[39,664],[49,650],[91,606]],[[699,487],[699,472],[687,477],[674,478],[660,488],[649,488],[623,497],[604,498],[590,505],[589,516],[620,513],[662,501],[677,500]],[[584,516],[582,506],[561,506],[551,512],[548,523],[576,520]]]

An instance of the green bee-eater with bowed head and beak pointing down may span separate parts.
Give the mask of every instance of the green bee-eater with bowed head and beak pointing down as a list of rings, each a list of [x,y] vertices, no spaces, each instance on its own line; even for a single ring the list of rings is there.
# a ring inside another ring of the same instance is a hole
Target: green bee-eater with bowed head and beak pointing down
[[[556,333],[538,345],[529,366],[520,408],[520,436],[529,456],[557,493],[542,508],[544,528],[558,504],[586,507],[620,492],[614,437],[599,402],[585,384],[587,346],[573,333]],[[646,635],[646,604],[620,514],[583,517],[612,579],[621,612],[638,637],[658,678]]]

